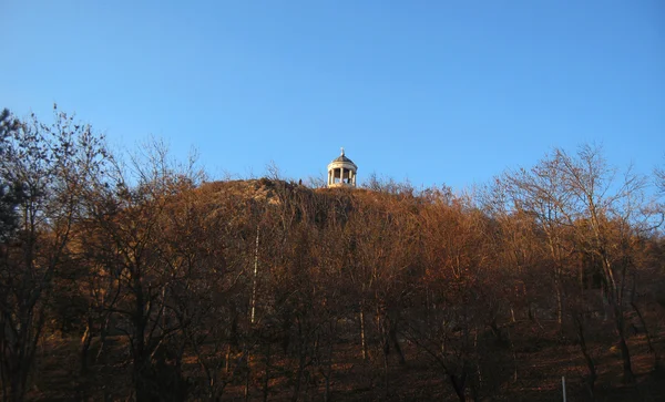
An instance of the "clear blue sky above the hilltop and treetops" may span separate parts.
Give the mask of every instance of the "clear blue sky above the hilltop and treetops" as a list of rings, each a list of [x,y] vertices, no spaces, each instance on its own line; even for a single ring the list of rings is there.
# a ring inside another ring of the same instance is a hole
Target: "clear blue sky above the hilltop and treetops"
[[[216,175],[325,174],[339,147],[462,188],[583,142],[665,164],[665,1],[0,0],[0,107],[57,102]]]

